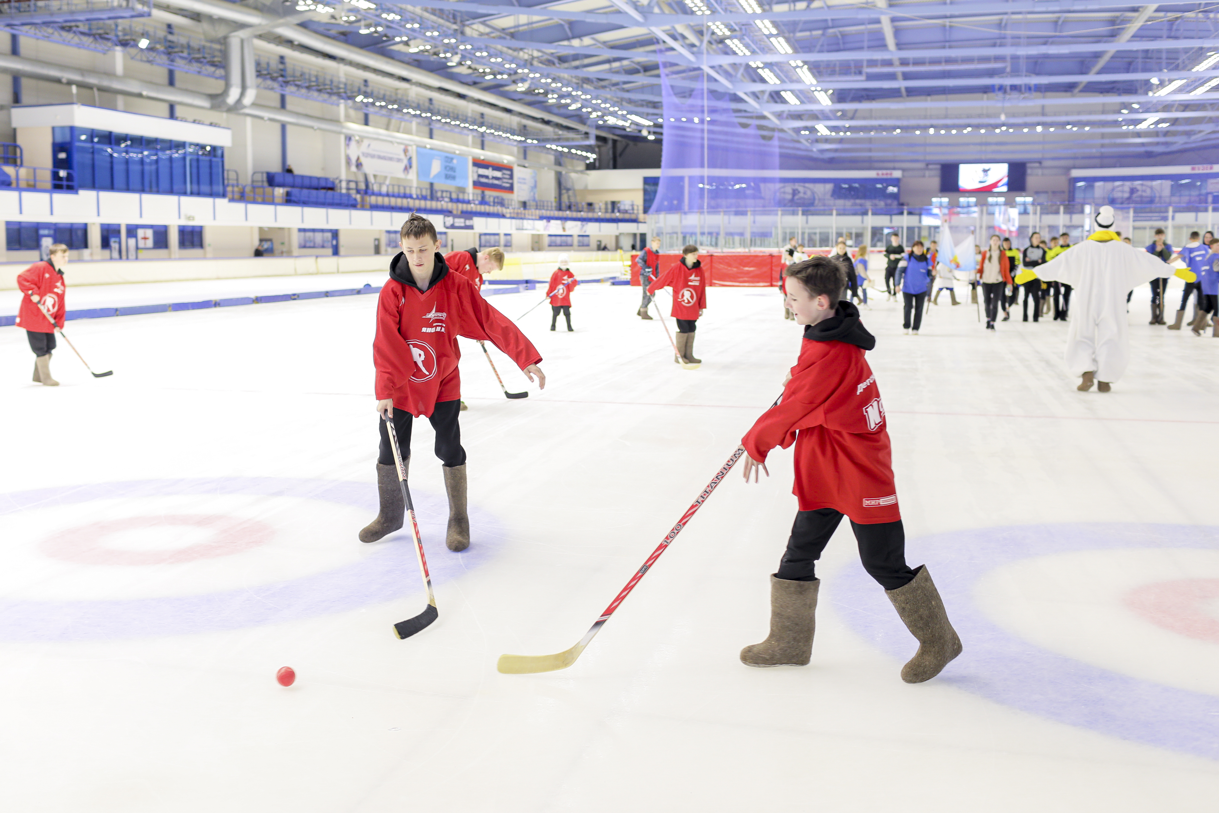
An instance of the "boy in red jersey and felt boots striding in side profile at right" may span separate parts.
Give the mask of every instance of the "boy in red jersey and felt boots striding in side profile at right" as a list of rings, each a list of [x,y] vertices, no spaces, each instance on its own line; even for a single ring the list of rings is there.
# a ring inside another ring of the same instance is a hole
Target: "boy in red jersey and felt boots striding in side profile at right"
[[[902,668],[902,680],[922,683],[961,655],[961,639],[948,623],[940,594],[925,566],[906,564],[906,535],[885,430],[885,407],[876,377],[864,360],[875,338],[859,311],[839,296],[842,269],[811,257],[784,272],[787,307],[803,324],[800,358],[791,368],[783,401],[757,419],[741,441],[745,480],[766,470],[775,446],[796,444],[800,503],[787,550],[770,577],[770,635],[741,650],[751,667],[805,666],[816,630],[820,580],[814,564],[846,514],[859,544],[863,567],[885,589],[918,653]]]

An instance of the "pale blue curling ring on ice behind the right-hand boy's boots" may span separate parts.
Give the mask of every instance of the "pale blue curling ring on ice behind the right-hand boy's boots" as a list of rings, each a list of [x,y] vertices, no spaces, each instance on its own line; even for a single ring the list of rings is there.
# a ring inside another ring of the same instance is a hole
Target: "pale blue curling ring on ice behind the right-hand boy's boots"
[[[1113,549],[1219,550],[1219,528],[1204,525],[1063,523],[980,528],[911,539],[907,561],[926,562],[948,608],[964,653],[936,683],[981,695],[1013,708],[1102,734],[1219,759],[1219,697],[1165,686],[1050,652],[1006,630],[983,612],[974,585],[990,572],[1045,555]],[[1189,580],[1195,581],[1195,580]],[[1175,619],[1207,634],[1197,609],[1219,595],[1214,580],[1178,596],[1162,627]],[[837,609],[859,635],[895,658],[913,656],[917,642],[885,601],[884,591],[862,568],[834,578]],[[1180,591],[1181,583],[1175,585]],[[1165,583],[1128,594],[1151,612],[1162,611]],[[1186,603],[1186,602],[1190,603]],[[1158,602],[1158,603],[1157,603]],[[1147,614],[1147,613],[1142,613]],[[1184,619],[1184,620],[1182,620]],[[1169,627],[1171,629],[1171,627]],[[1181,629],[1175,629],[1181,634]]]

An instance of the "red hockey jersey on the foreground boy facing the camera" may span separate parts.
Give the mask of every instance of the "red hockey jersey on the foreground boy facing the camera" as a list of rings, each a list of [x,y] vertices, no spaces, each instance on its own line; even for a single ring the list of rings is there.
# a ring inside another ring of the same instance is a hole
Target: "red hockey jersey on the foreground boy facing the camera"
[[[440,401],[461,397],[457,336],[489,340],[522,369],[541,361],[536,347],[506,316],[488,305],[474,284],[451,273],[436,254],[428,290],[421,291],[401,254],[390,263],[390,278],[377,302],[378,400],[413,416],[430,416]]]

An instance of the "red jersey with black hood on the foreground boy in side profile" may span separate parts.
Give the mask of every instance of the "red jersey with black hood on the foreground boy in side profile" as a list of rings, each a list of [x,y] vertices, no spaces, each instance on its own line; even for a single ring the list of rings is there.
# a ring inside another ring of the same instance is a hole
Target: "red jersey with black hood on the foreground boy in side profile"
[[[835,316],[805,329],[783,401],[741,441],[757,461],[795,441],[801,511],[834,508],[862,525],[902,518],[885,407],[864,361],[874,346],[855,305],[839,302]]]

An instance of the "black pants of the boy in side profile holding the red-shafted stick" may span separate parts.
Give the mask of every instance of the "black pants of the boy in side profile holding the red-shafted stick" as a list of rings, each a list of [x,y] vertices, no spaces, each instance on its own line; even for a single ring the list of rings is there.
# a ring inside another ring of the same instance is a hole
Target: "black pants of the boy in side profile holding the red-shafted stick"
[[[791,525],[791,536],[787,539],[787,550],[779,559],[779,572],[775,577],[787,581],[816,579],[817,559],[822,557],[822,551],[825,550],[840,522],[842,514],[833,508],[797,511],[796,522]],[[851,530],[855,531],[855,539],[859,544],[863,569],[881,588],[897,590],[911,583],[914,570],[906,564],[906,530],[901,519],[875,525],[861,525],[852,520]]]

